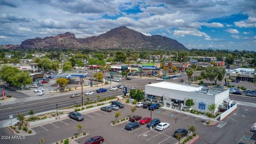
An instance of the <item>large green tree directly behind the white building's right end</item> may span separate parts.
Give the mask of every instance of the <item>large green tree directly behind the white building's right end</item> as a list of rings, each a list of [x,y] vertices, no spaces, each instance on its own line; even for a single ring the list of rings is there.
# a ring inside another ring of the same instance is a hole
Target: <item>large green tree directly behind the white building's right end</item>
[[[214,81],[215,85],[217,85],[217,80],[222,81],[225,76],[226,70],[222,67],[206,67],[204,71],[202,71],[201,76],[203,78],[209,79],[209,81]]]

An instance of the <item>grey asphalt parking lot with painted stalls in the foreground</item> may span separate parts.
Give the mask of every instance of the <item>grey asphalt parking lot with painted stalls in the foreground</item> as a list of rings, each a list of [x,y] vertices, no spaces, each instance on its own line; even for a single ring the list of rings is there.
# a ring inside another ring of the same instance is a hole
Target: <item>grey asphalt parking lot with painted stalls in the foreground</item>
[[[121,112],[121,116],[118,119],[131,115],[131,106],[125,105],[125,108],[117,111]],[[111,111],[107,113],[105,111],[97,110],[87,114],[84,114],[84,121],[77,122],[74,119],[63,119],[58,122],[44,124],[41,126],[33,127],[32,130],[36,132],[36,135],[26,136],[25,140],[20,140],[19,143],[38,143],[38,139],[43,138],[46,143],[53,143],[61,139],[71,137],[78,132],[77,124],[83,125],[82,132],[87,132],[89,135],[86,137],[76,139],[77,143],[84,143],[90,137],[94,135],[101,135],[105,138],[104,143],[177,143],[173,137],[175,130],[179,128],[188,129],[189,126],[195,125],[197,128],[197,134],[201,135],[201,138],[196,143],[238,143],[238,141],[246,141],[242,138],[249,137],[247,143],[254,142],[253,132],[250,131],[250,126],[255,119],[255,108],[239,106],[239,108],[230,116],[228,116],[223,122],[214,126],[204,126],[205,120],[193,117],[186,114],[177,113],[172,110],[157,109],[152,111],[153,118],[159,118],[161,122],[167,122],[170,124],[168,129],[164,131],[157,131],[155,129],[150,130],[146,125],[141,125],[137,129],[132,131],[125,130],[124,127],[129,122],[117,124],[111,126],[110,123],[115,119],[115,112]],[[142,117],[150,117],[150,110],[137,108],[134,115],[140,115]],[[6,127],[2,133],[7,131]],[[255,135],[255,134],[254,134]],[[4,143],[17,143],[17,140],[5,140]]]

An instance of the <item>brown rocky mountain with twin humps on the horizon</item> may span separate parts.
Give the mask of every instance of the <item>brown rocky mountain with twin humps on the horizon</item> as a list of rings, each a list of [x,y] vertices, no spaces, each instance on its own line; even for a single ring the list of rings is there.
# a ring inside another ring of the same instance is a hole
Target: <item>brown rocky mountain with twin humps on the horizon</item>
[[[59,34],[57,36],[50,36],[45,38],[26,39],[20,45],[12,48],[28,49],[28,48],[42,48],[42,49],[179,49],[187,50],[187,48],[169,37],[161,35],[146,36],[138,31],[129,29],[127,27],[118,27],[107,31],[107,33],[99,36],[92,36],[86,38],[76,38],[74,34],[69,32]]]

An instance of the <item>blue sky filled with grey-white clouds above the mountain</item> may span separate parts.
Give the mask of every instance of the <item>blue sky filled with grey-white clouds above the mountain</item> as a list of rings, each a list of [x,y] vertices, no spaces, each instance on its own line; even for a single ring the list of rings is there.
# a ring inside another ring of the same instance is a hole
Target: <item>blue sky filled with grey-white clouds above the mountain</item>
[[[83,38],[119,26],[188,49],[256,51],[254,0],[0,0],[0,45],[66,31]]]

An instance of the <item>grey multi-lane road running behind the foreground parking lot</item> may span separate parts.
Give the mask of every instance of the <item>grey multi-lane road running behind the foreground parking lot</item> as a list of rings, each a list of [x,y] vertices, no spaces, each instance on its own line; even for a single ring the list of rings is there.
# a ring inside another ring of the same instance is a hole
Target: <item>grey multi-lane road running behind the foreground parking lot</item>
[[[183,75],[183,79],[187,79],[186,75]],[[173,82],[179,82],[179,80],[172,80],[169,79],[167,81],[173,81]],[[145,89],[145,85],[148,84],[149,82],[151,83],[156,83],[159,81],[156,81],[156,79],[148,79],[148,78],[137,78],[133,77],[131,81],[124,80],[123,82],[119,82],[118,84],[120,85],[126,85],[128,87],[128,91],[130,90],[129,88],[131,86],[136,86],[138,89]],[[105,86],[106,88],[109,89],[109,85]],[[95,87],[94,87],[94,92],[95,92]],[[80,93],[79,91],[76,91],[74,93]],[[105,93],[95,93],[92,95],[89,95],[90,101],[97,99],[96,96],[100,95],[100,98],[105,98],[105,97],[110,97],[111,95],[121,95],[123,94],[122,90],[115,90],[115,91],[108,91]],[[87,97],[87,96],[86,96]],[[84,97],[84,102],[86,102],[86,97]],[[230,94],[229,97],[233,100],[237,101],[244,101],[244,102],[250,102],[250,103],[256,103],[256,98],[251,98],[251,97],[246,97],[246,96],[241,96],[241,95],[233,95]],[[40,100],[33,100],[33,101],[26,101],[26,102],[20,102],[20,103],[15,103],[11,105],[3,105],[0,106],[0,121],[4,119],[8,119],[9,115],[13,114],[14,117],[17,116],[18,114],[25,114],[28,115],[29,110],[34,110],[35,113],[41,113],[43,111],[48,111],[48,110],[54,110],[56,109],[56,104],[58,103],[58,107],[67,107],[71,105],[76,105],[78,103],[81,103],[81,98],[70,98],[70,94],[65,94],[57,97],[51,97],[51,98],[46,98],[46,99],[40,99]]]

